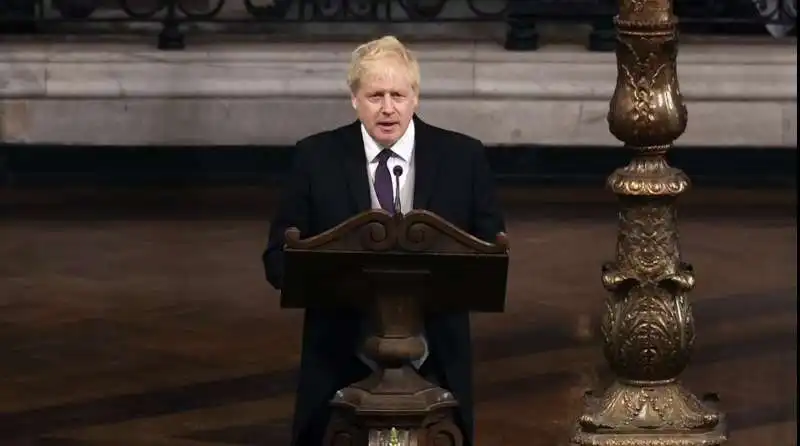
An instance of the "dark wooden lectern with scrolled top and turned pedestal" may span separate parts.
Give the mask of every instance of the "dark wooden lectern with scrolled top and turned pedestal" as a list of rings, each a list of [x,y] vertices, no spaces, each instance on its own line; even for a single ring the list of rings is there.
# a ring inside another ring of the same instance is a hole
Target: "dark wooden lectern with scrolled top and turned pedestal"
[[[411,365],[426,312],[502,312],[508,241],[481,241],[424,210],[357,215],[317,236],[286,231],[284,308],[356,308],[372,333],[367,379],[339,390],[325,446],[461,446],[458,401]]]

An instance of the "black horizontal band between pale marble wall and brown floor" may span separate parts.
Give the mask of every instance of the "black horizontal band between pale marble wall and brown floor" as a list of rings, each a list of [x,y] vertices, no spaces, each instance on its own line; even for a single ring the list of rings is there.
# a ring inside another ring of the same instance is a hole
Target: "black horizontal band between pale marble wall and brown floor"
[[[490,147],[503,184],[601,187],[630,152],[619,147]],[[670,161],[701,187],[797,184],[797,150],[787,147],[680,147]],[[290,147],[102,147],[0,145],[8,186],[264,185],[279,181]],[[0,178],[2,179],[2,178]]]

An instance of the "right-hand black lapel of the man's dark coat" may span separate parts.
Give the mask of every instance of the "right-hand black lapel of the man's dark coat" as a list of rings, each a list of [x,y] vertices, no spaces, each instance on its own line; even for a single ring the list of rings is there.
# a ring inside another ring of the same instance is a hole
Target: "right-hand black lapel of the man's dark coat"
[[[439,169],[439,147],[431,127],[414,116],[414,208],[427,209],[436,186]]]

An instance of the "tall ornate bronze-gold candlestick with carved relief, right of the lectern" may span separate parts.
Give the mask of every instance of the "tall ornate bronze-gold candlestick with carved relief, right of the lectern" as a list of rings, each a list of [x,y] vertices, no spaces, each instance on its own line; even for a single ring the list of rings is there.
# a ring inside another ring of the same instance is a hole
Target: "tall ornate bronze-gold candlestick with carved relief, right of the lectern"
[[[602,396],[587,395],[572,443],[719,445],[727,439],[724,416],[678,382],[694,341],[694,273],[681,260],[675,210],[689,179],[665,158],[687,121],[672,0],[621,0],[615,25],[617,85],[608,123],[635,151],[607,182],[621,205],[616,260],[602,275],[610,292],[604,353],[617,379]]]

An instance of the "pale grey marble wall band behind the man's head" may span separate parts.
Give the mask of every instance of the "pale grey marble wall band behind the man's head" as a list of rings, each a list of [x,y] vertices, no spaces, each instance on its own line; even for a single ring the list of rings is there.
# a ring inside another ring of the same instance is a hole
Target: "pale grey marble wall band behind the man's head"
[[[351,45],[3,44],[0,136],[16,143],[292,144],[353,119]],[[613,54],[418,44],[421,116],[487,144],[618,145],[605,120]],[[797,146],[797,48],[686,44],[689,126],[678,144]]]

